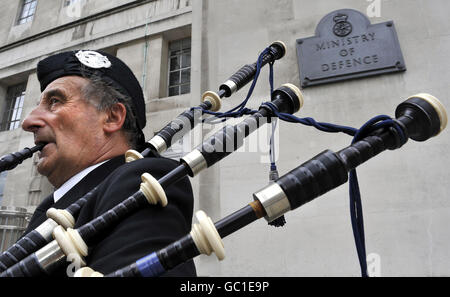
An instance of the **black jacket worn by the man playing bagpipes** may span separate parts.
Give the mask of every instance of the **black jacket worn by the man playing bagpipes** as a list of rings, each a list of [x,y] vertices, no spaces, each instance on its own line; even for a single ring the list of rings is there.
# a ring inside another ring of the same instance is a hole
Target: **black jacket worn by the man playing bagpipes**
[[[99,194],[92,196],[81,209],[74,227],[76,229],[138,191],[143,173],[150,173],[159,179],[177,165],[177,162],[161,157],[145,158],[130,163],[125,163],[123,156],[116,157],[91,171],[56,203],[53,203],[53,195],[44,199],[36,208],[26,233],[47,219],[45,213],[48,208],[65,209],[99,185],[97,191]],[[181,179],[167,187],[165,192],[168,199],[166,207],[159,204],[148,205],[112,226],[92,242],[86,257],[87,266],[107,274],[189,233],[194,203],[189,179],[187,177]],[[66,268],[67,265],[64,265],[52,275],[67,275]],[[195,275],[194,263],[189,261],[163,276]]]

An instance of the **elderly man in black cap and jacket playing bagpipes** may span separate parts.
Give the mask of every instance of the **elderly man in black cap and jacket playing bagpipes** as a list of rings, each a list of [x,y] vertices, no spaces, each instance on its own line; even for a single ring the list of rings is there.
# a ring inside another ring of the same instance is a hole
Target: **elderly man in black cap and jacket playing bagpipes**
[[[82,226],[135,193],[143,173],[159,178],[176,167],[157,153],[125,162],[128,150],[145,148],[146,116],[142,89],[120,59],[95,51],[64,52],[40,61],[37,75],[42,94],[23,129],[41,146],[37,170],[56,190],[36,208],[25,235],[52,215],[71,221],[72,228]],[[142,207],[90,239],[85,264],[108,273],[188,233],[193,212],[188,178],[165,192],[169,202],[164,207]],[[77,204],[81,197],[83,203]],[[76,216],[58,212],[76,205],[71,213]],[[50,275],[79,268],[68,269],[68,264]],[[192,261],[167,274],[195,275]]]

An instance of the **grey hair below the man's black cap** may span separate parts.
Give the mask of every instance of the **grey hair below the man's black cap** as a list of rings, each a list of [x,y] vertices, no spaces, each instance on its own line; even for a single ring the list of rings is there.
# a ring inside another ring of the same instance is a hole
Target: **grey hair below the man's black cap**
[[[84,77],[89,80],[89,84],[82,90],[83,97],[96,106],[97,110],[107,111],[116,103],[122,103],[125,106],[127,114],[122,131],[130,147],[136,149],[137,139],[139,139],[139,128],[137,127],[136,114],[132,107],[133,99],[99,76]]]

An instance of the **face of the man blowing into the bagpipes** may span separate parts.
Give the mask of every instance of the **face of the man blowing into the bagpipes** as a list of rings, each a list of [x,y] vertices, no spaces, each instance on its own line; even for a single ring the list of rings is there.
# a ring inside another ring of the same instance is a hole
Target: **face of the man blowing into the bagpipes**
[[[55,187],[102,156],[106,116],[84,99],[82,90],[88,83],[79,76],[54,80],[22,124],[34,133],[35,143],[46,143],[37,169]]]

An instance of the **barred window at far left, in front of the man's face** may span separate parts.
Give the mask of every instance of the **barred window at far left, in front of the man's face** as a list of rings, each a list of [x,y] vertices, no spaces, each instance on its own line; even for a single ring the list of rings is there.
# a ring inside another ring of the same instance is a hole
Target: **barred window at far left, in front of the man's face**
[[[14,130],[20,126],[23,102],[25,100],[25,84],[8,88],[5,111],[3,112],[0,131]]]

